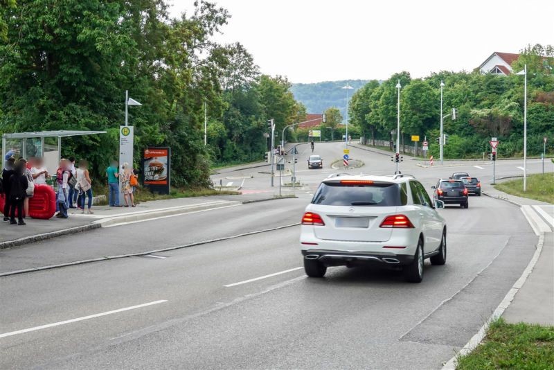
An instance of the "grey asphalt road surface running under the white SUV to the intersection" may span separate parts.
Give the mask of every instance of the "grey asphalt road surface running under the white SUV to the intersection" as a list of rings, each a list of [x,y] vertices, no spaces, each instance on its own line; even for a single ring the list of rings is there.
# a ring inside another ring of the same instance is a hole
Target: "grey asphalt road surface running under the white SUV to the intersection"
[[[324,146],[316,144],[324,159],[341,155],[340,145]],[[390,173],[384,172],[393,166],[388,158],[359,151],[351,157],[359,156],[373,173]],[[404,172],[425,186],[438,172],[447,176],[464,168],[441,171],[406,162]],[[474,165],[488,166],[465,168]],[[519,170],[502,166],[506,175]],[[479,170],[473,168],[472,175]],[[254,175],[246,186],[268,191],[267,175],[244,171]],[[298,199],[57,241],[113,252],[122,245],[184,244],[298,222],[327,171],[302,175],[306,185],[296,191]],[[479,176],[486,177],[485,170]],[[500,200],[472,197],[469,209],[440,212],[449,227],[448,261],[426,263],[420,284],[404,282],[393,270],[346,267],[331,268],[325,279],[307,279],[299,227],[0,278],[0,368],[438,369],[479,330],[537,243],[519,208]],[[54,250],[51,242],[34,247]],[[30,256],[33,245],[26,248]],[[145,303],[152,304],[140,306]],[[113,312],[123,308],[130,309]],[[55,325],[42,327],[48,324]]]

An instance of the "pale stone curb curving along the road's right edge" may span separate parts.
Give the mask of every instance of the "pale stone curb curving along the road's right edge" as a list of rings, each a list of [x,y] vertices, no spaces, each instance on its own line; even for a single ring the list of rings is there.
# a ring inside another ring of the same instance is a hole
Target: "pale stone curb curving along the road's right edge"
[[[487,195],[488,197],[492,197],[494,199],[505,200],[506,202],[510,202],[511,204],[515,204],[516,206],[519,206],[519,208],[521,209],[521,204],[513,202],[512,200],[508,200],[507,198],[494,197],[493,195],[489,195],[486,193],[483,193],[483,194]],[[533,224],[530,223],[530,220],[528,220],[527,222],[529,222],[531,228],[533,228],[533,231],[535,231],[535,228],[533,227]],[[535,231],[535,235],[536,234],[537,233]],[[508,293],[506,293],[506,296],[504,296],[502,301],[499,303],[499,305],[494,310],[494,312],[492,312],[492,315],[490,315],[487,321],[485,321],[485,324],[481,326],[479,331],[473,337],[471,337],[469,342],[467,342],[465,346],[463,346],[462,349],[458,351],[456,355],[454,355],[454,357],[452,357],[450,360],[445,362],[445,364],[443,364],[443,370],[455,370],[456,366],[458,365],[458,358],[460,356],[467,355],[468,353],[472,352],[474,349],[476,349],[477,346],[479,346],[479,344],[481,344],[481,342],[485,338],[485,335],[487,335],[487,330],[490,326],[490,323],[502,316],[503,312],[506,311],[506,309],[510,306],[510,304],[514,300],[515,295],[517,294],[517,292],[519,292],[519,289],[523,287],[529,275],[531,274],[531,272],[533,272],[533,268],[535,267],[535,264],[537,263],[537,261],[539,261],[539,257],[542,252],[543,245],[544,245],[544,233],[539,234],[539,241],[537,242],[535,253],[533,254],[533,257],[527,264],[527,267],[525,267],[524,272],[522,272],[521,276],[519,276],[519,279],[517,279],[514,285],[512,285],[512,288],[508,290]]]

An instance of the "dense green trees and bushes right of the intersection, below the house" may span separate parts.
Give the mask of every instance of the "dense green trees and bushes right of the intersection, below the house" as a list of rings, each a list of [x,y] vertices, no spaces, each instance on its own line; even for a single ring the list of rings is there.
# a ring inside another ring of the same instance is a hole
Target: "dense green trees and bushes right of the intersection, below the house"
[[[554,48],[528,46],[514,62],[515,72],[528,68],[528,152],[539,155],[542,139],[554,148]],[[397,121],[397,89],[400,80],[400,129],[406,143],[409,135],[427,136],[431,155],[438,153],[440,125],[440,82],[444,81],[443,115],[452,107],[457,119],[445,118],[449,142],[446,157],[477,157],[490,151],[492,136],[501,141],[499,156],[523,152],[524,76],[452,73],[442,71],[422,79],[397,73],[381,85],[370,81],[356,91],[348,107],[350,123],[357,125],[368,143],[371,139],[391,140]]]

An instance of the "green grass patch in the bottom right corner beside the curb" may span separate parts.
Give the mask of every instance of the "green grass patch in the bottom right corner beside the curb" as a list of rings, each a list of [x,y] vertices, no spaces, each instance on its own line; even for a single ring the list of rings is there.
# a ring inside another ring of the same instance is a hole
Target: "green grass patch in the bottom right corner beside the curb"
[[[554,326],[493,321],[483,342],[458,358],[456,369],[554,369]]]

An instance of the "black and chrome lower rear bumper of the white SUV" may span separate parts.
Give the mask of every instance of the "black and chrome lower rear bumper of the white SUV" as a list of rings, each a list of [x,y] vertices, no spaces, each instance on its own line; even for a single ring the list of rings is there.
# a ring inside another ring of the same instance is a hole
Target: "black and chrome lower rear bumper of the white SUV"
[[[391,254],[386,252],[346,252],[324,249],[307,249],[302,251],[306,259],[317,260],[325,266],[355,266],[368,264],[409,265],[413,256],[409,254]]]

